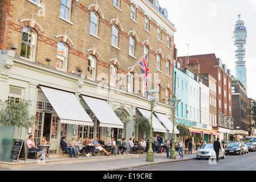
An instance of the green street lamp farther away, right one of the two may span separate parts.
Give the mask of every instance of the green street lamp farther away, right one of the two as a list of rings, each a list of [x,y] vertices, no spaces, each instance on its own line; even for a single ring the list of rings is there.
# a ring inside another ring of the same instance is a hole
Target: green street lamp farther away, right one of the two
[[[173,97],[169,99],[169,103],[170,103],[170,107],[172,107],[172,115],[173,115],[173,128],[172,128],[172,148],[170,150],[170,159],[176,159],[176,154],[175,154],[175,150],[174,150],[174,124],[175,124],[175,110],[177,108],[178,103],[181,100],[178,100],[175,96],[175,94],[173,94]]]

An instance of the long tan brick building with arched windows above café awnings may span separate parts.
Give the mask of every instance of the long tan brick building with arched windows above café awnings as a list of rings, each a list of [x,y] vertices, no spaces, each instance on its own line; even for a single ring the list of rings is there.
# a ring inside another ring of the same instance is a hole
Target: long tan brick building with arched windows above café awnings
[[[140,68],[133,68],[144,53],[149,55],[149,84],[160,92],[155,111],[170,118],[167,100],[173,93],[176,28],[157,0],[4,0],[0,12],[0,99],[31,100],[31,114],[38,116],[32,135],[40,140],[50,133],[51,150],[59,152],[64,135],[68,140],[71,136],[84,140],[86,135],[105,141],[111,136],[137,139],[134,118],[141,115],[137,108],[150,110]],[[60,118],[56,106],[60,101],[50,96],[66,92],[86,110],[84,118]],[[117,123],[99,119],[91,107],[99,100],[128,119],[127,126],[118,119]],[[27,136],[26,129],[15,130],[14,138]]]

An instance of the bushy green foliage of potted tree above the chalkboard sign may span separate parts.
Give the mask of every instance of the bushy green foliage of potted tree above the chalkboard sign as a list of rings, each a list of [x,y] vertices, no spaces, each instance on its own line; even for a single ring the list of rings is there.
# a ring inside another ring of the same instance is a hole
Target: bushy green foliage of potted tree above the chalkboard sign
[[[35,116],[29,115],[31,101],[9,100],[3,102],[0,100],[0,125],[1,126],[32,126],[35,122]]]

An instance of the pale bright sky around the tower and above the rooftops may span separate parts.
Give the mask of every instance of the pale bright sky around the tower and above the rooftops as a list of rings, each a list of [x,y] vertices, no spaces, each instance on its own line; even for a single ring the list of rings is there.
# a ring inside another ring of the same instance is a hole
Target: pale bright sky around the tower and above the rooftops
[[[234,76],[232,33],[240,14],[247,28],[247,97],[256,99],[256,0],[159,0],[159,4],[167,9],[168,19],[177,29],[178,56],[215,53]]]

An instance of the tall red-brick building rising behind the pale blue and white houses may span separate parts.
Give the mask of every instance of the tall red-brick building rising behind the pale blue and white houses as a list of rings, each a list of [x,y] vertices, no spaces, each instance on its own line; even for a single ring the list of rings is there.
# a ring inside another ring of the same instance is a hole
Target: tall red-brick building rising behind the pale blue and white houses
[[[220,140],[224,139],[225,143],[233,140],[233,118],[232,118],[232,100],[231,100],[231,71],[227,69],[222,60],[217,58],[214,53],[205,55],[193,55],[187,57],[178,57],[182,60],[182,66],[189,68],[193,73],[210,74],[216,82],[216,106],[217,106],[217,126],[220,133]],[[197,65],[198,63],[198,65]]]

